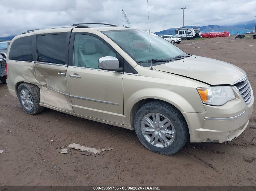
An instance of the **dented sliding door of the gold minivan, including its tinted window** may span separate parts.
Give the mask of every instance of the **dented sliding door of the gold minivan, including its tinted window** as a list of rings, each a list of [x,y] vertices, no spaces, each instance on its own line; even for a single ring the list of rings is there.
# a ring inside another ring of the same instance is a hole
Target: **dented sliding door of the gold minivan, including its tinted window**
[[[66,39],[67,34],[38,36],[34,70],[41,84],[40,103],[73,113],[66,77]]]

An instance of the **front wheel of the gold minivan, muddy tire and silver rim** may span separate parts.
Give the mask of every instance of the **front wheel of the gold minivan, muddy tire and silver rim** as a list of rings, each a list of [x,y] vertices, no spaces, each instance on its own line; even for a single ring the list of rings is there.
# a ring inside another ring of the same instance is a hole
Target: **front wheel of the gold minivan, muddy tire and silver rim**
[[[160,154],[178,152],[189,137],[184,116],[163,101],[151,101],[142,106],[136,113],[134,128],[141,143]]]

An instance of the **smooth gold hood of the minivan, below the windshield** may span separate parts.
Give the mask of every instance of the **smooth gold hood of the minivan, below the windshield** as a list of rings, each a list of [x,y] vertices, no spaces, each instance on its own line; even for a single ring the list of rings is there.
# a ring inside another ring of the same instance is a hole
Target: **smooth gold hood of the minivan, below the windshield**
[[[182,75],[205,82],[210,85],[233,85],[244,77],[245,72],[235,65],[201,56],[190,56],[185,59],[153,66],[154,69]]]

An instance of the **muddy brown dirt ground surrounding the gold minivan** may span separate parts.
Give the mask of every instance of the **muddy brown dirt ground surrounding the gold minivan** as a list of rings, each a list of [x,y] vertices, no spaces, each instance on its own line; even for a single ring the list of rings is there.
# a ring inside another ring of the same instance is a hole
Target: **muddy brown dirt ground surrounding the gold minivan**
[[[186,53],[241,67],[256,97],[256,40],[234,36],[187,40]],[[214,66],[213,66],[214,67]],[[146,149],[135,132],[47,109],[28,115],[0,82],[0,185],[256,185],[256,109],[250,123],[229,143],[187,143],[170,156]],[[51,141],[53,140],[53,141]],[[68,143],[112,147],[100,156]]]

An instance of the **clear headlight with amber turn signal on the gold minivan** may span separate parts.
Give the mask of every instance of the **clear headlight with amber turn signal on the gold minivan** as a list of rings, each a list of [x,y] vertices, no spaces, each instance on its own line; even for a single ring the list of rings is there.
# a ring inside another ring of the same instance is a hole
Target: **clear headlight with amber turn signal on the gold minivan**
[[[220,106],[235,99],[234,92],[230,86],[214,86],[197,88],[203,103]]]

